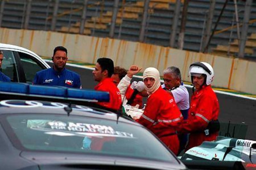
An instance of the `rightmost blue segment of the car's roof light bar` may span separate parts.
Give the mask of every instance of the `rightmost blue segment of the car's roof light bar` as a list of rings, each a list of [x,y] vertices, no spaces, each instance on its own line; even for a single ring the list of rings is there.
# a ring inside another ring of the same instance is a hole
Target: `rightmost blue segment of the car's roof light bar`
[[[88,100],[98,100],[98,101],[109,101],[108,92],[100,92],[95,90],[81,90],[81,89],[68,88],[68,97],[88,99]]]

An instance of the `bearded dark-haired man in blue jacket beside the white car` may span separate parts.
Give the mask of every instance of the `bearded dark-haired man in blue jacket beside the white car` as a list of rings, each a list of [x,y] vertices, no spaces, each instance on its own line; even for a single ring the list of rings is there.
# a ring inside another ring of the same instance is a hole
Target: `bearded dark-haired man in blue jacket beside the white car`
[[[54,48],[52,61],[53,67],[38,71],[34,78],[34,85],[59,85],[66,87],[82,88],[80,76],[65,68],[68,60],[68,51],[65,47]]]

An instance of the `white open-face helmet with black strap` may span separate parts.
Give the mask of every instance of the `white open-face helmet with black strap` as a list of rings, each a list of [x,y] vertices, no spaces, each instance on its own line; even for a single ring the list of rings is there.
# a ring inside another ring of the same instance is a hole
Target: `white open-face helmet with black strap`
[[[191,76],[191,82],[193,84],[193,75],[194,74],[204,74],[206,76],[205,84],[210,85],[214,78],[214,72],[212,66],[209,63],[205,62],[196,62],[192,63],[189,66],[189,75]]]

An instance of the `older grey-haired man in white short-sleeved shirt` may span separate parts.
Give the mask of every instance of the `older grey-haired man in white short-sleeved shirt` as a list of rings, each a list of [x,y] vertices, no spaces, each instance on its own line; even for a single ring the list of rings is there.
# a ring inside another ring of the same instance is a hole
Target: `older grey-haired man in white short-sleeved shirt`
[[[164,70],[164,84],[162,88],[173,96],[184,120],[186,120],[188,118],[189,94],[181,81],[180,69],[178,67],[171,66]],[[179,135],[179,140],[181,151],[187,144],[188,135]]]

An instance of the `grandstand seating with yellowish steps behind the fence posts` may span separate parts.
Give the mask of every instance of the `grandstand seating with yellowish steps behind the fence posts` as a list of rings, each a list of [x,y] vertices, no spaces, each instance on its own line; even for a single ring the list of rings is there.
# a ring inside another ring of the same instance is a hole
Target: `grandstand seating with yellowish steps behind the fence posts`
[[[24,26],[26,14],[26,0],[8,0],[5,1],[4,15],[2,20],[3,27],[22,28]],[[125,0],[124,8],[122,8],[123,0],[119,2],[119,11],[116,19],[116,27],[114,38],[121,38],[128,41],[138,41],[142,13],[143,0]],[[145,42],[162,46],[169,46],[169,37],[171,34],[171,26],[176,0],[150,0],[149,13],[145,31]],[[202,32],[204,28],[205,15],[209,10],[210,0],[193,0],[189,1],[188,18],[185,29],[184,49],[199,51]],[[223,0],[216,0],[214,18],[212,28],[215,25],[220,11],[224,5]],[[56,31],[78,33],[81,22],[81,14],[84,0],[60,0],[58,8],[58,17],[56,21]],[[183,1],[182,1],[183,3]],[[87,16],[84,34],[108,37],[110,23],[112,18],[114,0],[88,0]],[[245,2],[238,1],[237,7],[239,12],[239,22],[243,21],[243,9]],[[28,29],[50,30],[54,1],[49,0],[32,0],[31,14],[29,18]],[[231,26],[234,16],[234,4],[229,1],[217,30],[221,30]],[[48,18],[48,19],[47,19]],[[180,11],[181,18],[181,11]],[[251,9],[250,19],[256,18],[256,4]],[[180,29],[180,21],[176,34]],[[121,33],[119,33],[121,30]],[[253,36],[256,30],[256,22],[251,23],[248,28],[248,41],[246,42],[246,57],[256,59],[255,40]],[[251,41],[250,38],[253,40]],[[209,52],[214,54],[227,55],[230,39],[230,30],[213,36],[210,43]],[[237,33],[236,28],[233,29],[232,43],[230,44],[230,54],[237,55]],[[175,40],[177,47],[178,36]],[[220,49],[217,52],[217,49]],[[226,51],[224,51],[226,50]]]

